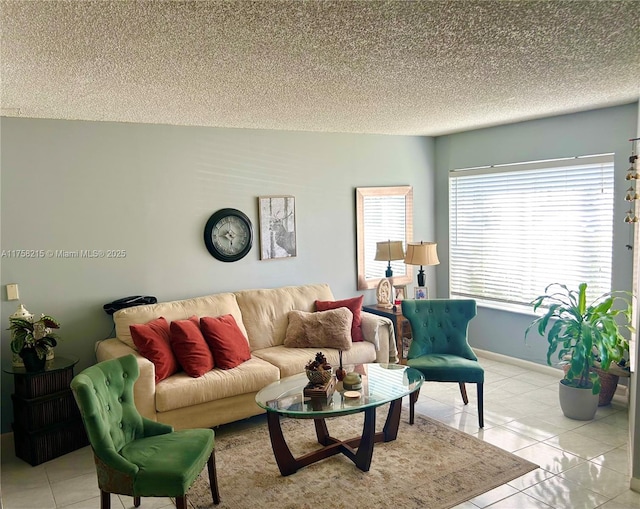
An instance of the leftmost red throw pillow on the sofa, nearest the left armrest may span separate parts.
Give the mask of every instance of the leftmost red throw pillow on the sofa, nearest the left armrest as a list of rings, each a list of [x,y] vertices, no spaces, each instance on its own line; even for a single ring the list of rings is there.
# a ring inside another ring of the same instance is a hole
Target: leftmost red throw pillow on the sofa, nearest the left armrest
[[[145,324],[129,325],[131,338],[140,354],[156,367],[156,383],[180,369],[169,343],[169,324],[164,317]]]

